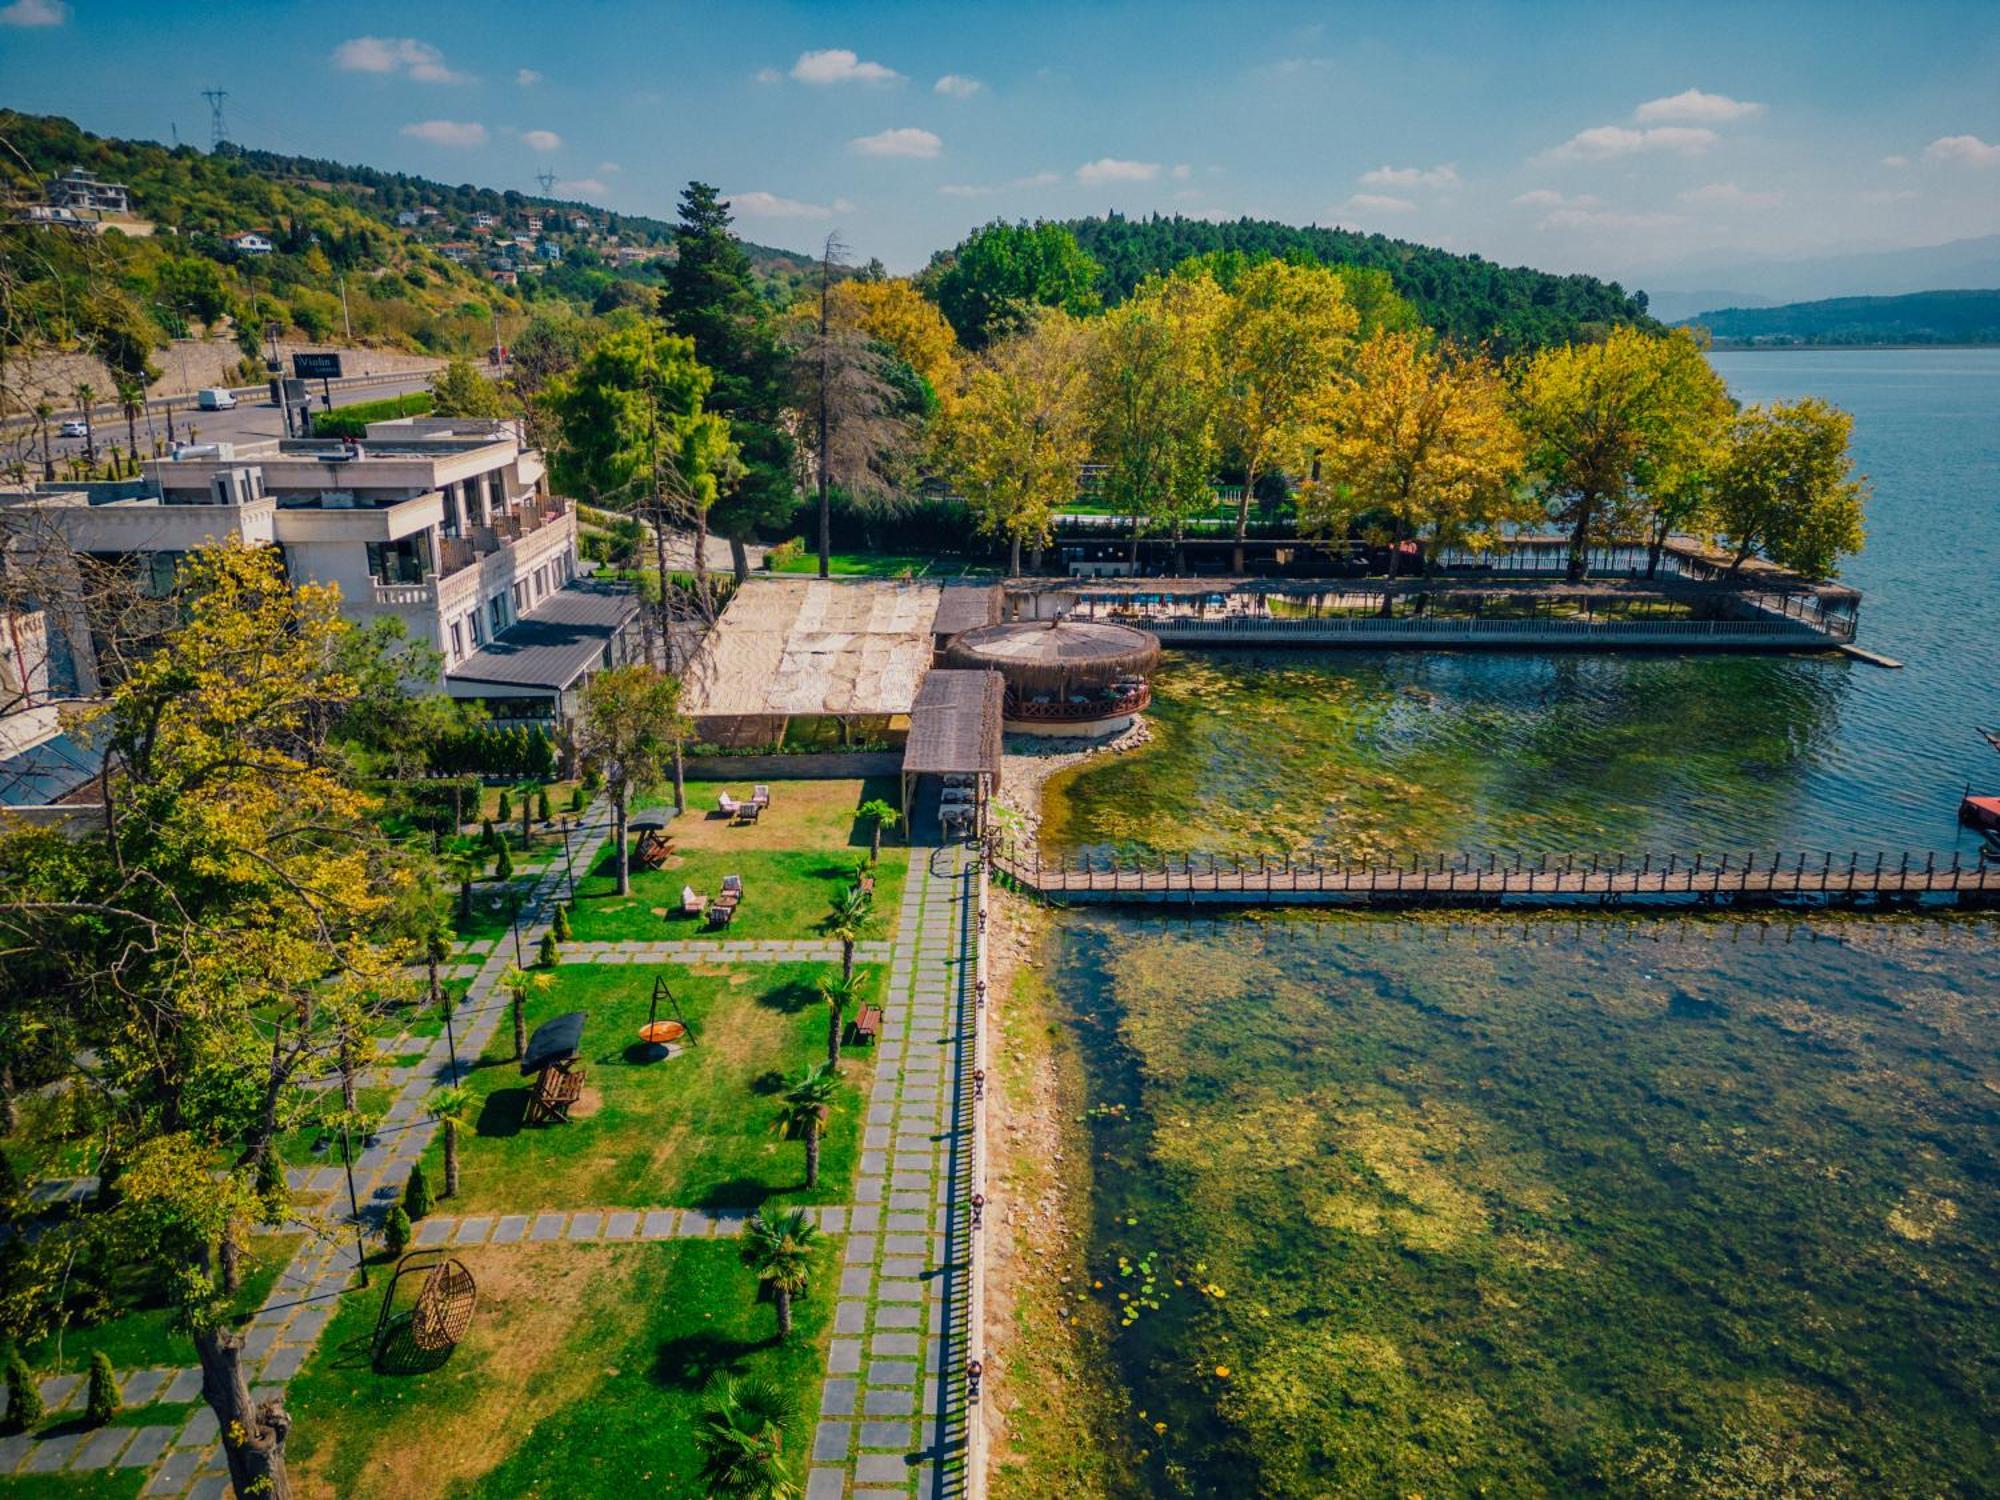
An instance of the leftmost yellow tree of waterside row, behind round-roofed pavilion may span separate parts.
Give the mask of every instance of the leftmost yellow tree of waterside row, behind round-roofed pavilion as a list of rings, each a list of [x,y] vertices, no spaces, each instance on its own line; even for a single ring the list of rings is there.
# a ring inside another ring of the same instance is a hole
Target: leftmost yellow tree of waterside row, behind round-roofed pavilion
[[[1014,574],[1024,544],[1048,544],[1050,518],[1076,498],[1078,468],[1090,458],[1088,348],[1076,318],[1040,310],[970,366],[962,396],[942,414],[944,472],[980,530],[1006,538]]]

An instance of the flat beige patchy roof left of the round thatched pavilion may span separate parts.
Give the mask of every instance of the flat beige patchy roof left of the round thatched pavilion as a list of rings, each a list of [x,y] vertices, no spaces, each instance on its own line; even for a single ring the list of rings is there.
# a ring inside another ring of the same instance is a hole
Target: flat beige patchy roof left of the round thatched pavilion
[[[750,578],[688,662],[698,718],[908,714],[930,666],[936,582]]]

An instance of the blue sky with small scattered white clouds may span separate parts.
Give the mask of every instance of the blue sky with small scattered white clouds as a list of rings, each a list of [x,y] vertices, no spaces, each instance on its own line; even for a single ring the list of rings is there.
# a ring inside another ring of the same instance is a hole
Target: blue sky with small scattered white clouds
[[[992,218],[1706,266],[2000,232],[2000,0],[0,0],[0,102],[922,266]]]

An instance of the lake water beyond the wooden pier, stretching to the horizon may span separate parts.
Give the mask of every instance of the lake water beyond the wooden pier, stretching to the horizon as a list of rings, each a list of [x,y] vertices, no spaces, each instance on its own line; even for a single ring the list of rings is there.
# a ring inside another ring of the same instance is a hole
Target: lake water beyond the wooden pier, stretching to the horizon
[[[2000,790],[2000,350],[1716,354],[1742,400],[1850,410],[1874,482],[1862,644],[1698,654],[1204,652],[1158,742],[1056,784],[1054,848],[1348,856],[1958,852]]]

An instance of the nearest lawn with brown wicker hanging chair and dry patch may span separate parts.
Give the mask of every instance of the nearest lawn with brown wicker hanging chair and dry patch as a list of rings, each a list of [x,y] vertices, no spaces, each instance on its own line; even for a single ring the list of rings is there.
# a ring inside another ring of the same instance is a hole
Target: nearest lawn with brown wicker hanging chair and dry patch
[[[818,1252],[786,1344],[730,1240],[458,1254],[478,1282],[478,1312],[434,1370],[376,1374],[380,1280],[342,1298],[286,1398],[300,1496],[700,1500],[692,1438],[718,1374],[764,1376],[794,1396],[786,1452],[804,1480],[836,1240]]]

